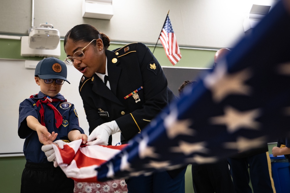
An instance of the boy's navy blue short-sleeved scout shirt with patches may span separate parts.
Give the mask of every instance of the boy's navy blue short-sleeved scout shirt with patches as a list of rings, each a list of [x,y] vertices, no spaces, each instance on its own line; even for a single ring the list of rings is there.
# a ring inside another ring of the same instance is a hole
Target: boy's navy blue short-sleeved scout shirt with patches
[[[37,107],[36,102],[38,100],[44,100],[44,95],[41,91],[37,95],[33,95],[33,98],[25,99],[19,106],[19,120],[18,120],[18,135],[21,139],[25,139],[23,152],[26,161],[33,163],[47,163],[47,157],[43,151],[41,151],[41,144],[38,139],[37,132],[30,129],[27,126],[26,117],[29,115],[35,117],[40,122],[40,105]],[[55,140],[69,140],[68,133],[71,130],[77,129],[84,134],[84,130],[79,127],[79,119],[77,111],[73,104],[66,102],[65,98],[61,94],[57,94],[55,97],[60,100],[59,102],[52,102],[53,106],[62,115],[63,121],[59,128],[55,125],[55,115],[53,110],[46,104],[42,104],[44,108],[44,123],[49,133],[54,131],[58,133]]]

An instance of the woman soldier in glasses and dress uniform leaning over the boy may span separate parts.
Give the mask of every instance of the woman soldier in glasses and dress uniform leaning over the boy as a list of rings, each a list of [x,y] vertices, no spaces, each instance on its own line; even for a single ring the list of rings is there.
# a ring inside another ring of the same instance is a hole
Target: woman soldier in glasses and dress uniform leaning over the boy
[[[107,145],[121,133],[124,144],[176,98],[162,68],[142,43],[109,51],[110,39],[87,24],[65,36],[65,61],[84,74],[79,84],[90,136],[88,144]],[[180,172],[181,171],[181,172]],[[185,169],[127,180],[129,192],[184,192]]]

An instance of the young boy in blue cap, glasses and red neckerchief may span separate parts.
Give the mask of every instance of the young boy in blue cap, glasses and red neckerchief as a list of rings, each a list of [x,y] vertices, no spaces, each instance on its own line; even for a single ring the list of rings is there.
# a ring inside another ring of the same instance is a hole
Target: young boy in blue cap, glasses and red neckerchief
[[[23,152],[26,158],[21,193],[73,192],[74,181],[48,162],[41,151],[43,144],[55,139],[87,141],[84,130],[79,127],[74,105],[59,93],[64,81],[68,82],[66,76],[67,68],[61,60],[53,57],[41,60],[35,69],[35,82],[40,91],[20,103],[18,135],[25,139]]]

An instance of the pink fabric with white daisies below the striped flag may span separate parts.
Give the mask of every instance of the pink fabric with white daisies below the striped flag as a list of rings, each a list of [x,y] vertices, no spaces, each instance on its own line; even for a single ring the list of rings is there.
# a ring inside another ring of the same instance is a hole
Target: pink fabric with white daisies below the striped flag
[[[75,189],[76,193],[127,193],[127,184],[125,180],[111,180],[100,183],[91,182],[76,182]]]

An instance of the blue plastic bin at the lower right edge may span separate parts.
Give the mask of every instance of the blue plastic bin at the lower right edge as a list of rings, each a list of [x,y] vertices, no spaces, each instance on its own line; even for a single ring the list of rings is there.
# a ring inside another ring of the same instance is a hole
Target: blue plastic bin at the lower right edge
[[[290,167],[288,159],[284,155],[273,157],[270,154],[272,176],[276,193],[289,193],[290,192]]]

